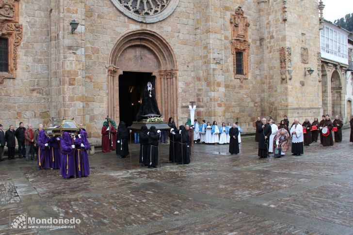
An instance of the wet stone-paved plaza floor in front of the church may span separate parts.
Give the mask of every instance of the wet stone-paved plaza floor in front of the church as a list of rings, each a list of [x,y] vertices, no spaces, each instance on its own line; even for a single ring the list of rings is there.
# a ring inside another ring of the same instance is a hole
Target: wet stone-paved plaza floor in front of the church
[[[353,145],[305,146],[304,156],[259,159],[196,144],[190,165],[148,170],[115,152],[90,156],[91,175],[64,180],[24,159],[0,162],[0,234],[353,234]],[[79,218],[75,229],[9,230],[10,213]]]

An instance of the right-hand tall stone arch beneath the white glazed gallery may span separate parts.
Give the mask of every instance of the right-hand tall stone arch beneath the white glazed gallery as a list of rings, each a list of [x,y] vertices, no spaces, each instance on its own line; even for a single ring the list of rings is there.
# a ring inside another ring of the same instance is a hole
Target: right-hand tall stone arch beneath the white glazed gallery
[[[335,115],[342,118],[342,84],[337,70],[331,75],[331,110],[332,118]]]

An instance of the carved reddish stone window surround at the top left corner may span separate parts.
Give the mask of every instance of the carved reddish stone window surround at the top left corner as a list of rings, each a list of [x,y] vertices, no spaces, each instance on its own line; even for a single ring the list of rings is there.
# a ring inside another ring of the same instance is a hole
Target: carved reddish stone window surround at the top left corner
[[[3,78],[15,78],[17,69],[17,51],[21,44],[23,26],[18,23],[19,0],[0,0],[0,36],[9,40],[9,69],[0,72],[0,83]]]

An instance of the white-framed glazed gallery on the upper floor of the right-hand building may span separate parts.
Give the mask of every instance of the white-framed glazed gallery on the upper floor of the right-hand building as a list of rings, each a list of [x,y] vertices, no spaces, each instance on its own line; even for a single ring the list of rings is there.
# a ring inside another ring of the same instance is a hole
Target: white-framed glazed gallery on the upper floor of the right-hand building
[[[327,26],[320,33],[321,50],[344,59],[348,58],[347,35]]]

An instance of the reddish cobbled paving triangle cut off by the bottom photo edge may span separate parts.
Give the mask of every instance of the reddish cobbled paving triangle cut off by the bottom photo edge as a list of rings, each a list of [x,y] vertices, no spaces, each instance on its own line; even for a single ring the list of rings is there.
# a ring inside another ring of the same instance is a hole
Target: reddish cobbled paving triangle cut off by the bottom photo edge
[[[288,224],[282,224],[272,220],[266,220],[242,212],[225,214],[207,221],[187,224],[170,228],[168,230],[152,233],[153,235],[166,234],[262,234],[262,235],[320,235],[313,231],[301,229]]]

